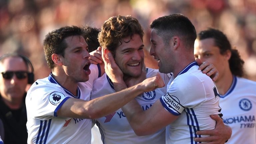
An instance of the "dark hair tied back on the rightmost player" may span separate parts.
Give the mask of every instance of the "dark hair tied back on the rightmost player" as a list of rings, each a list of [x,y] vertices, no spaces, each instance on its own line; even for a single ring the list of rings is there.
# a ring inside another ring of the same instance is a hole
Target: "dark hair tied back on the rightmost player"
[[[242,77],[244,75],[244,61],[241,59],[238,50],[232,49],[231,44],[227,36],[218,29],[208,28],[201,31],[199,34],[199,40],[213,38],[214,44],[220,49],[220,54],[225,54],[228,50],[231,51],[231,57],[228,60],[231,73],[235,76]]]

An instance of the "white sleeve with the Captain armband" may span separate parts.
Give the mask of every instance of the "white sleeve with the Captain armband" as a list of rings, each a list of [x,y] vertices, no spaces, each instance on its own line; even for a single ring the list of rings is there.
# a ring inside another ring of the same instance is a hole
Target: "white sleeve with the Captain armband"
[[[176,77],[160,98],[162,105],[170,113],[180,115],[185,108],[193,108],[205,101],[205,88],[202,81],[194,75]]]

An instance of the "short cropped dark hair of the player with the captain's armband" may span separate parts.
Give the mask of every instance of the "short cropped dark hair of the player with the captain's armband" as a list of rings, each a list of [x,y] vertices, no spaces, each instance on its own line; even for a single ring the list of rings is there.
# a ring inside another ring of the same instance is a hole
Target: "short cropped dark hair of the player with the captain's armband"
[[[156,29],[157,34],[162,37],[164,44],[177,35],[183,39],[187,48],[194,48],[196,40],[196,29],[191,21],[182,14],[171,14],[155,19],[150,24],[151,29]]]

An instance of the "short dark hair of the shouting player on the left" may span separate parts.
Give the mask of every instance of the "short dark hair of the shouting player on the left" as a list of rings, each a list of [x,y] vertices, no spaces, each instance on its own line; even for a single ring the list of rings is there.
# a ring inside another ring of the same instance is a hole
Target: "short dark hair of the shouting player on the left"
[[[64,51],[67,48],[67,44],[64,41],[66,37],[81,35],[83,30],[77,26],[65,26],[57,30],[49,32],[43,43],[45,59],[48,67],[52,70],[54,68],[54,62],[52,60],[52,54],[61,54],[64,57]]]

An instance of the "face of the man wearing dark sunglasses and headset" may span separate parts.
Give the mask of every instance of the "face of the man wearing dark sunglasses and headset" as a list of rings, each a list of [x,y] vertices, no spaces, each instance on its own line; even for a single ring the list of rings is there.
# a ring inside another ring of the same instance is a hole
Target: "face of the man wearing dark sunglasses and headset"
[[[27,72],[26,63],[20,57],[7,57],[0,62],[0,72]],[[28,77],[18,79],[16,74],[10,79],[3,78],[0,74],[0,93],[2,97],[8,101],[13,99],[22,99],[25,93],[25,88],[28,84]]]

